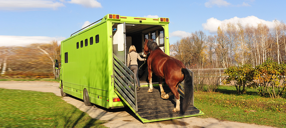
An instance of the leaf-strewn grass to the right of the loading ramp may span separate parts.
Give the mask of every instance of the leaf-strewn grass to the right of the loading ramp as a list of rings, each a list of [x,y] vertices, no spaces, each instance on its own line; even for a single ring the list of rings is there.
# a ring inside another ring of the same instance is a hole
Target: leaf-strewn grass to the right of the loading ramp
[[[286,127],[286,99],[260,97],[255,90],[236,95],[234,86],[221,86],[220,92],[195,92],[194,104],[205,115],[200,118]]]

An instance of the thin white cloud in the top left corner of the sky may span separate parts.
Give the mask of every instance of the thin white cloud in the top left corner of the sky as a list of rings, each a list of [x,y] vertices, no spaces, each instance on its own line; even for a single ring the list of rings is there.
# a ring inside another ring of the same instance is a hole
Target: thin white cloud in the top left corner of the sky
[[[33,10],[39,8],[58,9],[65,7],[62,3],[49,0],[0,0],[0,10]]]

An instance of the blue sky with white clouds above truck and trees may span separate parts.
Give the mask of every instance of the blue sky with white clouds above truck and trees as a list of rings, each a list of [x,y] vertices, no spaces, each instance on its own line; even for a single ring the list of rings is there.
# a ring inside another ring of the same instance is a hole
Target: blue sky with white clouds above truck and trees
[[[285,21],[284,0],[104,1],[0,0],[0,47],[59,43],[107,14],[170,18],[169,43],[202,30],[215,35],[222,23],[273,27]]]

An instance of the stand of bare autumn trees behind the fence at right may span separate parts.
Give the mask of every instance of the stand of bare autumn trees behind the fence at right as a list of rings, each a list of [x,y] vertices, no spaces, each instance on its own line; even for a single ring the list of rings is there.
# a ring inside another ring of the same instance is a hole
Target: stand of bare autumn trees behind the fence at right
[[[277,20],[274,24],[271,30],[263,23],[256,26],[243,26],[240,22],[221,24],[217,35],[208,37],[196,31],[177,41],[175,57],[185,65],[214,68],[227,68],[234,62],[254,67],[268,57],[278,63],[286,62],[286,25]]]

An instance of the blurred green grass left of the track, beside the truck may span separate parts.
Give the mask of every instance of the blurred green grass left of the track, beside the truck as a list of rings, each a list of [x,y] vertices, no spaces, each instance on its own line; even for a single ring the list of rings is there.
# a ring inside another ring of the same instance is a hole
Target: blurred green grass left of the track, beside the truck
[[[54,93],[0,88],[0,127],[105,127]]]

